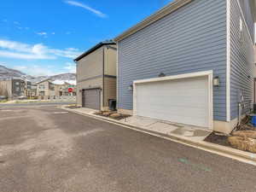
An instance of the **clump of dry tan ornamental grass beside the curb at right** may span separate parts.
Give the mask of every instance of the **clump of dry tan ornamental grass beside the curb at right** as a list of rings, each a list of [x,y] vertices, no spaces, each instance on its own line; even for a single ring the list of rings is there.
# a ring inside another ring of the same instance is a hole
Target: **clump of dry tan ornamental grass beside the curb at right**
[[[229,137],[229,143],[232,147],[243,150],[249,151],[252,153],[256,153],[256,139],[252,139],[249,137]]]

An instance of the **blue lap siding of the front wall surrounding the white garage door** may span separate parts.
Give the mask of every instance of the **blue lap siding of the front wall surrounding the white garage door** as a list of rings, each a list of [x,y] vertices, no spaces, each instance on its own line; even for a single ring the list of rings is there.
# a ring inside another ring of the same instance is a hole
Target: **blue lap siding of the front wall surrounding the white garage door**
[[[118,108],[132,109],[137,79],[213,70],[214,119],[226,119],[226,3],[195,0],[118,44]]]

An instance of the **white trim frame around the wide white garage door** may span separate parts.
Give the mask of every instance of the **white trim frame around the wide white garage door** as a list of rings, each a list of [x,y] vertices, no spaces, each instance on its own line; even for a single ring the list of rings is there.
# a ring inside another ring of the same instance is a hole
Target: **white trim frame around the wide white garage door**
[[[174,79],[189,79],[189,78],[196,78],[196,77],[208,77],[208,110],[209,110],[209,125],[208,128],[213,130],[213,110],[212,110],[212,70],[211,71],[204,71],[198,73],[185,73],[180,75],[173,75],[173,76],[166,76],[161,78],[153,78],[153,79],[143,79],[143,80],[136,80],[133,81],[133,115],[137,115],[137,84],[144,84],[150,82],[160,82],[160,81],[167,81],[167,80],[174,80]]]

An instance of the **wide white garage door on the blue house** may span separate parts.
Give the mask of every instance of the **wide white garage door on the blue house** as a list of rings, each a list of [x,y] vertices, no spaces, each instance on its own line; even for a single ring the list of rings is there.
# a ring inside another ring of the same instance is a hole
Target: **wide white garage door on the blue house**
[[[208,77],[136,84],[139,116],[209,128]]]

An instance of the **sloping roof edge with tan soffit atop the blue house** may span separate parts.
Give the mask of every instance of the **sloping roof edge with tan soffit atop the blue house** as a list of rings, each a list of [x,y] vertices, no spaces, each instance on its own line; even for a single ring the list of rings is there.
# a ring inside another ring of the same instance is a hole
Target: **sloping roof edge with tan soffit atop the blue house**
[[[144,27],[149,26],[150,24],[154,23],[157,20],[160,20],[161,18],[165,17],[166,15],[171,14],[172,12],[176,11],[177,9],[180,9],[184,5],[192,2],[193,0],[176,0],[172,3],[169,3],[166,5],[166,7],[160,9],[153,15],[148,16],[146,19],[139,22],[136,26],[132,26],[127,31],[121,33],[118,37],[114,38],[113,40],[115,42],[118,42],[124,38],[129,37],[135,32],[138,32],[142,30]]]

